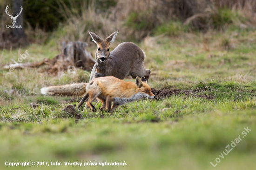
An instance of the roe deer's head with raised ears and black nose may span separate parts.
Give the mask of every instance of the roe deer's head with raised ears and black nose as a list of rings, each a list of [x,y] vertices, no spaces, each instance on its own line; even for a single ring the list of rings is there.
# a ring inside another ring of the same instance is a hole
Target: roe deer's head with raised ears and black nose
[[[109,46],[112,42],[114,42],[115,37],[117,36],[118,30],[115,33],[112,33],[109,35],[106,39],[101,39],[98,35],[95,33],[92,33],[89,31],[89,34],[91,35],[93,42],[97,44],[97,51],[95,53],[95,59],[98,63],[105,62],[110,55],[109,52]]]

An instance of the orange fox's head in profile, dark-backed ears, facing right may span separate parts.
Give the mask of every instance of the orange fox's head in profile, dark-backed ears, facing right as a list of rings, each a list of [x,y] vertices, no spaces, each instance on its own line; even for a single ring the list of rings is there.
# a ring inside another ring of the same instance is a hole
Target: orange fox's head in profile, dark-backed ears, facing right
[[[156,98],[156,96],[151,92],[151,88],[148,85],[145,77],[136,77],[135,86],[137,87],[136,93],[141,93],[144,98]]]

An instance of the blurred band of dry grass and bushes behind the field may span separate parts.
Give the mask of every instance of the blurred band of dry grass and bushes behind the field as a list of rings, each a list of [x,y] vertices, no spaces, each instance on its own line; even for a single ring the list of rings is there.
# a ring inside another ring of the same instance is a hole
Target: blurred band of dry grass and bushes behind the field
[[[12,1],[0,1],[0,42],[11,34],[7,5],[12,10]],[[103,38],[118,29],[120,40],[141,41],[256,24],[255,0],[24,0],[23,12],[27,37],[39,44],[52,38],[88,41],[88,30]]]

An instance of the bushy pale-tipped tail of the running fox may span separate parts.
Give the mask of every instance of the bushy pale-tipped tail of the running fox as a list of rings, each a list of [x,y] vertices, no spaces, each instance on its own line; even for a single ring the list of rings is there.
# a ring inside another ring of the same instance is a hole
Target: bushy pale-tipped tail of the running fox
[[[71,85],[56,85],[43,87],[40,92],[52,96],[83,96],[86,93],[87,83],[76,83]]]

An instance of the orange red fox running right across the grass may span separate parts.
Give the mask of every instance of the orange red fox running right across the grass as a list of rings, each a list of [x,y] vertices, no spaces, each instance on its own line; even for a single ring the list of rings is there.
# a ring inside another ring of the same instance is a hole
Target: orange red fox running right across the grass
[[[84,96],[78,104],[78,108],[90,97],[86,104],[92,111],[96,111],[92,105],[95,98],[102,103],[101,111],[114,111],[119,105],[141,98],[155,98],[145,77],[136,77],[135,84],[113,76],[100,77],[94,78],[90,83],[43,87],[40,92],[44,95]]]

